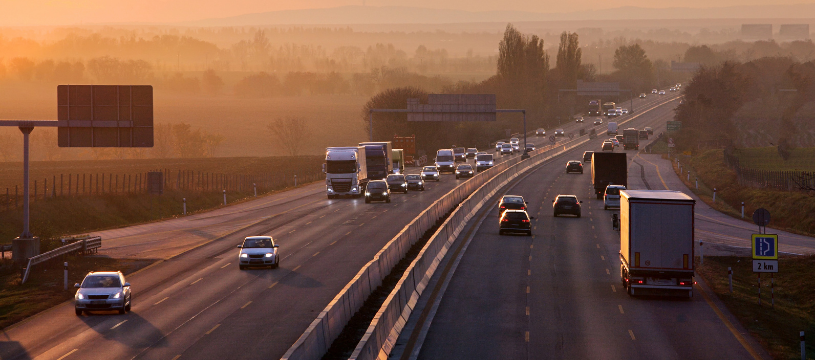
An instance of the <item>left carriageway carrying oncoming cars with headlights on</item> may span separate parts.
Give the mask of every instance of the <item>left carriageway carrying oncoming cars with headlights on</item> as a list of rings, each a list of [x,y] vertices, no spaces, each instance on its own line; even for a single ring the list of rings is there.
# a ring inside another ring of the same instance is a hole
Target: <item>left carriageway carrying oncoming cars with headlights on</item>
[[[636,101],[636,110],[662,100],[671,97]],[[591,124],[564,128],[577,134],[581,126]],[[547,140],[530,142],[543,146]],[[394,194],[391,204],[328,200],[324,185],[315,184],[209,213],[101,232],[103,254],[162,259],[128,277],[132,312],[77,317],[73,304],[63,303],[5,329],[0,358],[279,357],[361,266],[458,181],[446,175],[440,183],[427,182],[424,192]],[[250,235],[276,239],[279,269],[238,269],[235,246]]]

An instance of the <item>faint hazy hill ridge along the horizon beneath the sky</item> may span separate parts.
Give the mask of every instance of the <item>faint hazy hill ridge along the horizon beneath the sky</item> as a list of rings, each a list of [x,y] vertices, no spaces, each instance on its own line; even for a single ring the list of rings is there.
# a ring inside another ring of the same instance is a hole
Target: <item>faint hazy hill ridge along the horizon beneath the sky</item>
[[[814,4],[730,6],[713,8],[619,7],[570,13],[524,11],[463,11],[403,6],[342,6],[283,10],[180,23],[188,26],[252,26],[287,24],[453,24],[482,22],[641,20],[641,19],[762,19],[814,16]]]

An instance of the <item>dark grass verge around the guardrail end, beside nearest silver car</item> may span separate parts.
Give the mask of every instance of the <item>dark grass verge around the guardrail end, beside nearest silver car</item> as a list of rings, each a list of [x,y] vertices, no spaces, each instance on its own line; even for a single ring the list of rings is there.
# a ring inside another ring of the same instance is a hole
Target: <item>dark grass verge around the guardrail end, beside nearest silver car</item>
[[[63,290],[63,261],[68,262],[68,290]],[[89,271],[119,270],[131,274],[155,260],[111,259],[102,256],[68,255],[33,267],[28,281],[20,284],[19,271],[3,260],[0,271],[0,329],[74,298],[74,283]]]

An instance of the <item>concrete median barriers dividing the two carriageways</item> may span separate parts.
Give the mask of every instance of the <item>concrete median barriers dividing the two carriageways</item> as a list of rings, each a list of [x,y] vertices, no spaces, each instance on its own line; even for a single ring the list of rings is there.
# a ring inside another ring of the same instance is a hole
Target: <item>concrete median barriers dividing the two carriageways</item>
[[[621,122],[621,124],[630,122],[637,118],[636,115],[667,104],[674,99],[660,103],[641,113],[632,114],[630,119]],[[449,249],[444,248],[445,245],[452,243],[452,240],[458,236],[463,230],[466,220],[469,220],[484,202],[493,196],[495,191],[509,179],[513,179],[521,172],[587,141],[589,139],[586,137],[578,137],[561,144],[537,149],[530,152],[531,157],[529,159],[523,161],[514,155],[513,158],[478,173],[472,179],[459,184],[436,200],[393,237],[376,254],[373,260],[359,270],[353,280],[333,298],[299,339],[285,352],[282,359],[322,358],[333,341],[341,334],[348,321],[362,307],[367,297],[382,284],[382,280],[405,256],[408,249],[421,239],[438,219],[458,205],[448,220],[441,225],[433,238],[430,239],[428,244],[421,250],[421,253],[407,268],[404,276],[388,295],[382,308],[374,317],[370,327],[350,357],[351,359],[386,358],[401,332],[401,327],[404,326],[410,315],[412,306],[408,304],[415,305],[421,291],[424,290],[435,271],[435,267],[431,269],[431,266],[437,266],[443,259],[444,254]],[[510,172],[506,172],[511,168]],[[502,174],[505,175],[500,176]],[[479,189],[483,193],[474,195]],[[463,201],[465,203],[462,204]],[[440,250],[433,251],[430,250],[431,247]],[[408,306],[410,307],[407,308]],[[399,331],[395,331],[394,326],[399,327]]]

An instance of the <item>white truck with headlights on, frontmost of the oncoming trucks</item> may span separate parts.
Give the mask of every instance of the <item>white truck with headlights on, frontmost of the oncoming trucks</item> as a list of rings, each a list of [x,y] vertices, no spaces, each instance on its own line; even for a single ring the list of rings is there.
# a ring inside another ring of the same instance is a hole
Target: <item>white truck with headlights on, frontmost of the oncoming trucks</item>
[[[327,198],[341,195],[360,197],[367,187],[367,157],[364,146],[329,147],[322,170]]]

